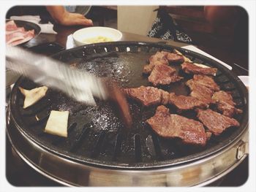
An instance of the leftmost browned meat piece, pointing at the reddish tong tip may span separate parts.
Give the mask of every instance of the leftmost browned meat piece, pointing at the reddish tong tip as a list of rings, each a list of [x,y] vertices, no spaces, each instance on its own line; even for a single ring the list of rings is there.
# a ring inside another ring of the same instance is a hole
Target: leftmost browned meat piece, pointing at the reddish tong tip
[[[139,88],[124,88],[124,93],[135,101],[140,102],[144,106],[167,104],[169,101],[169,93],[162,89],[154,87],[140,86]]]

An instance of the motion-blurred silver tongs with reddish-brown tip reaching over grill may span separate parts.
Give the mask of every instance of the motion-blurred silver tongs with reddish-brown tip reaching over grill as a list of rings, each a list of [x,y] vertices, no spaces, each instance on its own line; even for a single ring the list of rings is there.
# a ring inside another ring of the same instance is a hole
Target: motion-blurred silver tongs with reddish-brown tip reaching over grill
[[[6,47],[6,67],[36,83],[67,93],[77,101],[96,105],[94,97],[110,100],[126,126],[132,118],[124,93],[116,82],[96,77],[45,55],[31,53],[20,47]]]

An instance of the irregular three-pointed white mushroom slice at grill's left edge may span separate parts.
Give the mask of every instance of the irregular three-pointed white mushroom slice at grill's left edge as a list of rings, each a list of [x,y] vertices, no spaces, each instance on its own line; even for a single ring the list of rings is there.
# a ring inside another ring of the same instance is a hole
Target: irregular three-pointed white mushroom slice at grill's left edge
[[[20,89],[20,92],[25,96],[23,109],[26,109],[26,107],[29,107],[35,104],[40,99],[42,99],[42,97],[45,96],[46,91],[48,91],[48,87],[46,86],[33,88],[31,90],[26,90],[20,87],[19,89]]]

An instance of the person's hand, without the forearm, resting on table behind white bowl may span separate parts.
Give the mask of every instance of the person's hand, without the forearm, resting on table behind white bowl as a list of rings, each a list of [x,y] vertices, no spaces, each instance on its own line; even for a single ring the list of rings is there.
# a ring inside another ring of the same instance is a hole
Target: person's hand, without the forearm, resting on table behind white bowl
[[[63,26],[93,26],[92,20],[72,12],[65,12],[63,20],[60,20],[59,23]]]

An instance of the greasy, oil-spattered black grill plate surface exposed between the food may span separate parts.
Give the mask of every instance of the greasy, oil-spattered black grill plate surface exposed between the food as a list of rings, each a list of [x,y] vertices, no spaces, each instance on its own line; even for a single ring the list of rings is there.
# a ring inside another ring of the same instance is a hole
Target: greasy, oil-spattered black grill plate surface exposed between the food
[[[150,85],[147,77],[143,76],[142,69],[150,55],[156,53],[157,50],[159,50],[158,47],[119,45],[74,50],[69,54],[61,55],[60,59],[70,64],[71,67],[91,72],[99,77],[113,78],[122,87],[138,87]],[[192,61],[211,66],[200,58],[187,56]],[[180,71],[180,66],[175,66],[175,68],[177,73],[185,77],[184,80],[161,88],[178,95],[188,95],[189,88],[184,82],[192,76]],[[238,107],[244,107],[243,98],[228,77],[222,72],[218,72],[215,80],[222,90],[233,93]],[[20,86],[30,89],[38,85],[34,85],[29,80],[23,80]],[[97,101],[97,106],[91,107],[70,99],[64,93],[49,90],[44,99],[29,109],[23,110],[23,96],[19,91],[17,91],[17,98],[19,115],[29,137],[54,153],[89,164],[127,168],[150,167],[154,166],[154,163],[166,161],[169,162],[169,165],[175,164],[189,155],[203,153],[203,151],[219,145],[228,139],[230,134],[237,131],[236,128],[230,128],[220,137],[211,138],[204,148],[184,147],[176,139],[158,137],[146,125],[146,120],[154,115],[156,107],[141,107],[140,104],[129,100],[134,121],[133,127],[128,130],[116,118],[110,104],[105,101]],[[50,110],[69,111],[67,139],[43,132]],[[170,107],[170,112],[176,113],[176,110]],[[35,119],[35,115],[39,118],[38,121]],[[184,112],[182,115],[195,118],[194,112]],[[241,120],[241,116],[236,118]]]

